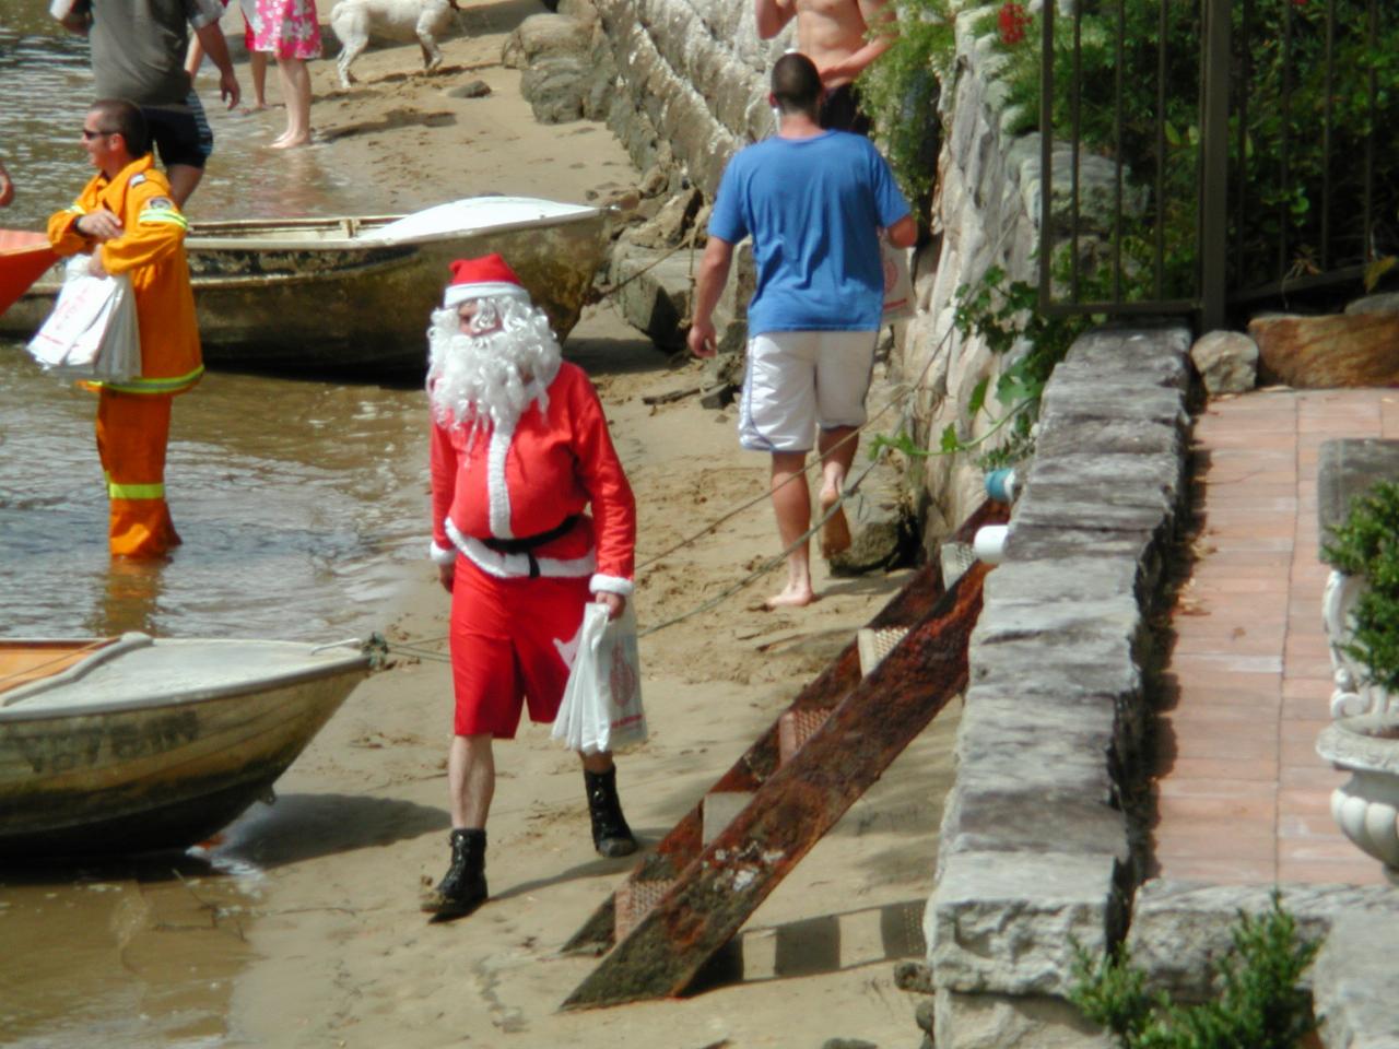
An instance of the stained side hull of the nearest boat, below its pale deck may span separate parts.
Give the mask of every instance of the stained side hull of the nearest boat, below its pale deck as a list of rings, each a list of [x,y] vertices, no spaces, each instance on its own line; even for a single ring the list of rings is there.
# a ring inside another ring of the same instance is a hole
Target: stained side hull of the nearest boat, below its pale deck
[[[0,857],[186,848],[267,796],[367,673],[333,669],[91,712],[0,716]]]

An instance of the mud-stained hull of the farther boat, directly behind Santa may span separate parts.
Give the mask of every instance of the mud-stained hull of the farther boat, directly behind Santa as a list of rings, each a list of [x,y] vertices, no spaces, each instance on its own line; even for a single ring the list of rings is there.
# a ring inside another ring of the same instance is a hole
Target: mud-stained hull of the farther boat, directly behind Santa
[[[204,362],[256,372],[403,373],[427,368],[429,315],[455,259],[499,252],[562,340],[606,250],[606,213],[484,228],[414,243],[365,242],[385,218],[194,224],[185,241]],[[353,234],[353,235],[351,235]],[[0,315],[29,338],[62,267]]]

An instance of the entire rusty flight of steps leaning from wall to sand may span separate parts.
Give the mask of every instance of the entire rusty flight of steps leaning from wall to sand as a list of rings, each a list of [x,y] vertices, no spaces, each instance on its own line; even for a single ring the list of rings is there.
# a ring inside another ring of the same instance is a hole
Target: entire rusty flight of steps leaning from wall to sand
[[[983,505],[954,538],[1004,520]],[[986,568],[921,569],[564,944],[610,952],[564,1008],[680,994],[967,684]],[[862,652],[863,649],[863,652]],[[863,673],[862,673],[863,656]],[[870,666],[872,660],[874,666]]]

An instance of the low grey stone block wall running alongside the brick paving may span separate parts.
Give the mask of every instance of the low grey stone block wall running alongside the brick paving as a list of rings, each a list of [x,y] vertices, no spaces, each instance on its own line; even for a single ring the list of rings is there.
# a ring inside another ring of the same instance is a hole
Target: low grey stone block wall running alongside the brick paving
[[[1185,502],[1184,327],[1081,337],[986,578],[923,927],[936,1042],[1108,1046],[1065,1000],[1073,950],[1123,939],[1151,603]]]

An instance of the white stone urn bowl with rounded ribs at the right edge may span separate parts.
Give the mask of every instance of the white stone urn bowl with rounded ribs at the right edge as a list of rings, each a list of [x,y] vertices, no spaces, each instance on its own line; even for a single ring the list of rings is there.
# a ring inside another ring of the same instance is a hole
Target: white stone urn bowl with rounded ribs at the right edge
[[[1399,885],[1399,713],[1337,718],[1316,738],[1316,752],[1350,772],[1330,794],[1336,824]]]

